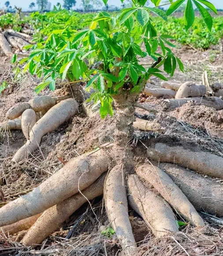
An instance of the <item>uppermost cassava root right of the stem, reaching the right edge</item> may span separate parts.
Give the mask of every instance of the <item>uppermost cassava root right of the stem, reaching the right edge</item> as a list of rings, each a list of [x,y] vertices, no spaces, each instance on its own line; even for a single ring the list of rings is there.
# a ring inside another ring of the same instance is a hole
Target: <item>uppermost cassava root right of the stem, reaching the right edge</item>
[[[168,146],[156,143],[147,150],[147,155],[157,162],[169,162],[190,168],[198,173],[223,179],[223,158],[197,147]]]

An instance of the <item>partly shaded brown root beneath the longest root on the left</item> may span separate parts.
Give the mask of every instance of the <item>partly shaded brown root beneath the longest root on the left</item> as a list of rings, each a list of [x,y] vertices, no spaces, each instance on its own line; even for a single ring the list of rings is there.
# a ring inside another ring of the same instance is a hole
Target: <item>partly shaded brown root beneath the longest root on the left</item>
[[[41,244],[46,237],[59,230],[62,223],[84,203],[102,195],[106,174],[102,174],[97,181],[85,188],[82,191],[84,196],[81,193],[75,194],[46,210],[23,237],[22,244],[33,247]]]

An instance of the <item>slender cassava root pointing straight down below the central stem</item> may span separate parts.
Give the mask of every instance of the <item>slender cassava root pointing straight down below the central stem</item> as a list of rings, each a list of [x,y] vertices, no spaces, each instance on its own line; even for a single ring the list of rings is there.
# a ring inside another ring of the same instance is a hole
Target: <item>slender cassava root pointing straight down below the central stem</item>
[[[122,176],[122,165],[115,166],[108,173],[104,184],[104,200],[108,220],[126,255],[136,248],[128,215],[125,177]]]

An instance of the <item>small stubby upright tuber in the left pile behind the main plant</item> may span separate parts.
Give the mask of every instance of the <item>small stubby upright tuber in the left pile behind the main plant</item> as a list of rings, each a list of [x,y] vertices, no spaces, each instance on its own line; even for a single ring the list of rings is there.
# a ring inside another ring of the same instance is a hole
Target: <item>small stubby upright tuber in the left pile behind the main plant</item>
[[[36,112],[33,109],[26,109],[22,113],[21,126],[26,139],[30,137],[30,131],[36,123]]]

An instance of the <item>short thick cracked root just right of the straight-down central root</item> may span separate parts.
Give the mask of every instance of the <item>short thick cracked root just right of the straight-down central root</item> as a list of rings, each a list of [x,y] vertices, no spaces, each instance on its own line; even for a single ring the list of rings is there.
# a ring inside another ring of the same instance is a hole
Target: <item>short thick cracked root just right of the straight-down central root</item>
[[[137,175],[128,178],[128,191],[131,207],[141,215],[156,237],[178,232],[171,207],[160,196],[146,188]]]

